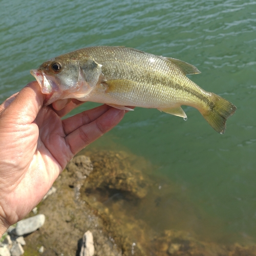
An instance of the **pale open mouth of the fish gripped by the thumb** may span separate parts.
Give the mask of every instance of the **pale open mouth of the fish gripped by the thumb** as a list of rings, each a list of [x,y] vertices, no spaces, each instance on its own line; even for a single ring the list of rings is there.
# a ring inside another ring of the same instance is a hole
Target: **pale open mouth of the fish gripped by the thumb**
[[[30,70],[30,74],[39,83],[42,94],[46,94],[44,105],[46,106],[54,102],[56,100],[56,94],[58,94],[58,86],[55,79],[38,69]]]

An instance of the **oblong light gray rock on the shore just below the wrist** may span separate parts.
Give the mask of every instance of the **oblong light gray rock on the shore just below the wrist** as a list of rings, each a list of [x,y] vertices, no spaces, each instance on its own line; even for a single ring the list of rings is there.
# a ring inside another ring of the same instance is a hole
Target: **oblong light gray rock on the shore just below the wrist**
[[[31,218],[21,220],[17,223],[15,233],[17,234],[17,236],[23,236],[24,234],[32,233],[36,229],[44,225],[45,220],[46,217],[43,214],[38,214]]]

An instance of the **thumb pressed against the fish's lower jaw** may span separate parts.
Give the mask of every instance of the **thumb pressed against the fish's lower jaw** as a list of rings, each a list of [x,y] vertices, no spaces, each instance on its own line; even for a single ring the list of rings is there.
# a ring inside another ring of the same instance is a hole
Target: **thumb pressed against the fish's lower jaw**
[[[39,84],[32,81],[1,105],[4,106],[2,117],[11,115],[19,124],[32,123],[42,108],[43,101],[44,95]]]

